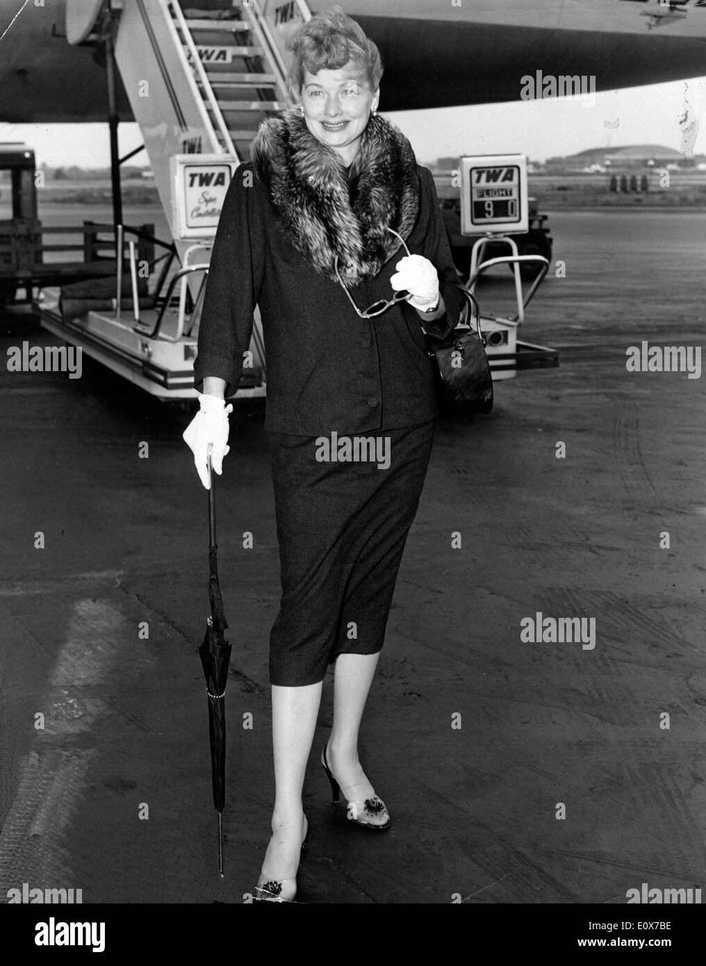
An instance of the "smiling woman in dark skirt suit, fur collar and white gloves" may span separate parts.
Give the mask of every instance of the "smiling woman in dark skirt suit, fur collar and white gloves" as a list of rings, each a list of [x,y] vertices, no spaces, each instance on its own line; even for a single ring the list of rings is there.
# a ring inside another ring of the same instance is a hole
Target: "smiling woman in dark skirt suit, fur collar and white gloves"
[[[462,302],[431,173],[378,115],[376,45],[336,7],[290,47],[296,106],[261,125],[223,205],[194,366],[200,412],[184,433],[208,487],[208,447],[220,473],[224,399],[259,304],[282,582],[269,639],[275,804],[255,890],[270,901],[297,894],[301,789],[329,664],[322,764],[334,801],[340,789],[353,824],[390,825],[358,729],[432,447],[424,333],[446,337]]]

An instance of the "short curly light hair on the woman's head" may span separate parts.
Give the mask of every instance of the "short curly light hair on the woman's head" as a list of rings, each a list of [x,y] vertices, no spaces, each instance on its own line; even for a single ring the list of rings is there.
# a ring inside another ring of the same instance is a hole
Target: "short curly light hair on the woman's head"
[[[295,102],[301,95],[304,71],[336,71],[352,59],[361,62],[374,91],[380,86],[383,69],[377,44],[340,7],[313,16],[289,40],[287,48],[292,51],[287,91]]]

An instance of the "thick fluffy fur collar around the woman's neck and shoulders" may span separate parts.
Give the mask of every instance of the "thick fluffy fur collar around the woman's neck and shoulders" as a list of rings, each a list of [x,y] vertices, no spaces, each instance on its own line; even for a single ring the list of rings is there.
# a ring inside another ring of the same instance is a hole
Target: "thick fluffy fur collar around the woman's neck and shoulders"
[[[402,247],[419,209],[416,158],[408,139],[371,115],[349,172],[318,141],[297,110],[265,120],[251,148],[289,240],[315,270],[336,281],[335,256],[348,286],[375,276]],[[348,267],[348,269],[347,269]]]

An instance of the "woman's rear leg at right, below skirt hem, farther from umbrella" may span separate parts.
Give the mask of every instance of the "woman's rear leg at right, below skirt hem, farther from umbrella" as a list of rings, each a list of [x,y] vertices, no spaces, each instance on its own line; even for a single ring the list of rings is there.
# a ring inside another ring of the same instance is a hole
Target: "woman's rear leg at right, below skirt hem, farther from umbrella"
[[[339,654],[334,666],[333,726],[326,758],[347,802],[364,801],[375,793],[358,760],[358,731],[379,658],[380,652]]]

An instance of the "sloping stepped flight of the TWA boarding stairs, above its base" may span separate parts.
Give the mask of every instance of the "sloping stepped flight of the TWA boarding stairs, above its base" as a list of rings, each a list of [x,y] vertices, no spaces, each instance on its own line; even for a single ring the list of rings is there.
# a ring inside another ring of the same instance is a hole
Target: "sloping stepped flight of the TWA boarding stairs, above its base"
[[[303,0],[199,7],[199,0],[122,0],[115,40],[168,216],[172,156],[223,155],[241,163],[262,120],[287,106],[286,42],[311,16]]]

